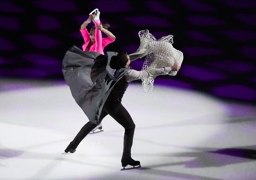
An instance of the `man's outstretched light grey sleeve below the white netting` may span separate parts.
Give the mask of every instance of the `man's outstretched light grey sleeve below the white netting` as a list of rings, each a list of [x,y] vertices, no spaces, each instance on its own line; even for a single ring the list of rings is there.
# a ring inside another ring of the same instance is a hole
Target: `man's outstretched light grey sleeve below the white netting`
[[[143,79],[147,77],[157,77],[159,75],[167,75],[171,73],[171,67],[164,67],[164,68],[157,68],[153,70],[143,70],[143,71],[136,71],[136,70],[130,70],[125,75],[126,81],[129,83],[131,81],[137,80],[137,79]]]

